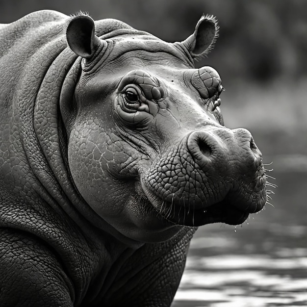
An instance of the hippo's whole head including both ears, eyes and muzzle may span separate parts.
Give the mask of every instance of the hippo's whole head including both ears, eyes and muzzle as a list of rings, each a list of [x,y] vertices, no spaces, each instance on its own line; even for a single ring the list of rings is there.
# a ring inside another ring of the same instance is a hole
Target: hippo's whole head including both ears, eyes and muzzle
[[[68,44],[82,59],[73,102],[61,105],[70,172],[102,223],[129,238],[241,224],[266,203],[251,133],[224,126],[218,73],[194,67],[217,32],[210,16],[177,43],[132,28],[99,38],[88,16],[68,25]]]

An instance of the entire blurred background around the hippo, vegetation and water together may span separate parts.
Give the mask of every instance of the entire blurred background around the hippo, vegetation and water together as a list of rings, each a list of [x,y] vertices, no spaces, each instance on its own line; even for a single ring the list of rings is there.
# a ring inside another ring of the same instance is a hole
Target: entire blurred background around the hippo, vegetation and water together
[[[219,72],[225,125],[252,132],[275,195],[241,226],[198,230],[173,307],[307,306],[307,1],[0,0],[0,8],[0,23],[81,10],[169,42],[215,15],[220,37],[196,66]]]

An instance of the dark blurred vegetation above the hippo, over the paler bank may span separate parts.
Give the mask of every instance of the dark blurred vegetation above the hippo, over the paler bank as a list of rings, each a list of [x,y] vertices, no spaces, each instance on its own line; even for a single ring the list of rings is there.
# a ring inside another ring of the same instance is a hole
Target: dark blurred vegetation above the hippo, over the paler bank
[[[306,0],[0,0],[0,23],[39,9],[87,11],[116,18],[169,41],[185,39],[200,16],[219,20],[215,50],[198,66],[215,67],[223,79],[295,82],[307,75]]]

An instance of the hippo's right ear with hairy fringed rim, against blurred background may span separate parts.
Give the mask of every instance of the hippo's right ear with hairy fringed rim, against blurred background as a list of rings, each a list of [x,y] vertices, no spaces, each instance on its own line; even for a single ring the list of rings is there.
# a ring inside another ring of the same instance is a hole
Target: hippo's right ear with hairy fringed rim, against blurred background
[[[213,49],[218,36],[217,19],[212,15],[203,15],[198,21],[194,33],[181,44],[191,53],[193,59],[198,60]]]

